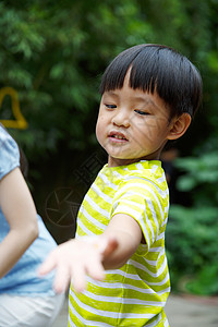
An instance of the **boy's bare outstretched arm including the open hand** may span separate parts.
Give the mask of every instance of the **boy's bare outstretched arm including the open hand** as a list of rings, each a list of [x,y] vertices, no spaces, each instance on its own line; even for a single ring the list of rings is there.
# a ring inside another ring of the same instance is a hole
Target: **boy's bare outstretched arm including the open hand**
[[[55,290],[62,292],[72,279],[74,289],[85,289],[86,275],[102,280],[105,269],[122,267],[142,240],[140,225],[129,215],[114,215],[106,231],[95,238],[71,240],[48,256],[38,272],[44,276],[56,268]]]

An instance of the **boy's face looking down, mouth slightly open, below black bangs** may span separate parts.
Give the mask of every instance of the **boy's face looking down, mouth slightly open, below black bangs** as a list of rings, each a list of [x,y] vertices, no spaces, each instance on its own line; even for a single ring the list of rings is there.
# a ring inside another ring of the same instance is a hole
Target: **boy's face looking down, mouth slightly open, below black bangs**
[[[109,156],[109,167],[140,160],[157,160],[168,141],[169,110],[157,94],[129,86],[105,92],[96,125],[96,135]]]

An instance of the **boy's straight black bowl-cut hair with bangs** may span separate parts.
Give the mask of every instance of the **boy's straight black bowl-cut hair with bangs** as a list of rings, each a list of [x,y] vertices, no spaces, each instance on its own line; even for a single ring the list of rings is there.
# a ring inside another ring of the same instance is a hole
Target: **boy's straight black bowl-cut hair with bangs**
[[[202,77],[195,65],[172,48],[138,45],[118,55],[106,69],[100,94],[120,89],[131,69],[130,87],[156,92],[172,117],[183,112],[194,116],[202,99]]]

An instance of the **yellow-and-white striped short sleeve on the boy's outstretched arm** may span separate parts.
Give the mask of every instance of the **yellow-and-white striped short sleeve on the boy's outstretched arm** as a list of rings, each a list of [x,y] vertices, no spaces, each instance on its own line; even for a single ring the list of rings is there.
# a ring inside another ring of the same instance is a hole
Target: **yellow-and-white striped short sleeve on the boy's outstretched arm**
[[[157,187],[146,179],[133,178],[117,191],[112,203],[111,217],[125,214],[141,226],[148,252],[157,240],[164,221],[164,208]]]

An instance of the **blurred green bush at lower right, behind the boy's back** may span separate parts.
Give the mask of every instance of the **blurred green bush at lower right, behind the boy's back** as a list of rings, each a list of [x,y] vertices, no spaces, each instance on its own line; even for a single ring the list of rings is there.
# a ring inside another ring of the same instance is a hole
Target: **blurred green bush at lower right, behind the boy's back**
[[[218,294],[218,148],[197,157],[180,158],[175,167],[184,174],[178,189],[190,192],[192,205],[172,205],[167,249],[175,287],[189,276],[186,290]]]

